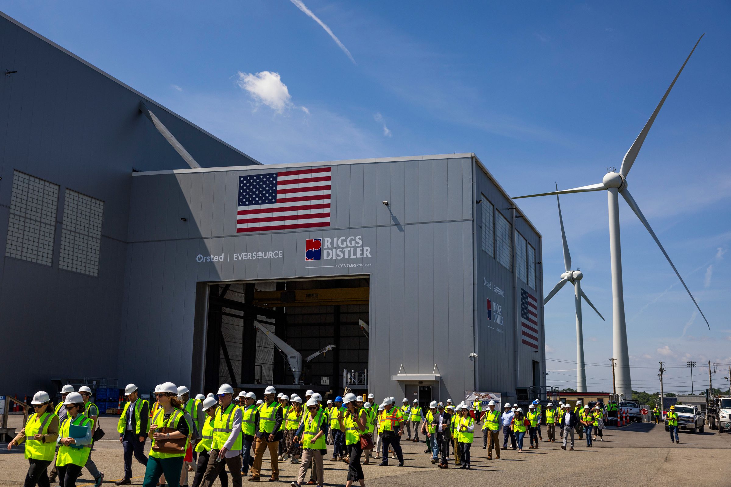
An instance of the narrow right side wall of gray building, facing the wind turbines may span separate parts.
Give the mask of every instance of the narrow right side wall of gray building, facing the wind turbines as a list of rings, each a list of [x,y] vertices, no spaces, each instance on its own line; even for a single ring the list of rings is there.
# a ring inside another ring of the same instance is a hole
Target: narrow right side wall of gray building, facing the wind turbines
[[[489,166],[489,165],[488,165]],[[495,212],[499,212],[507,221],[513,224],[527,242],[536,249],[536,262],[542,261],[541,237],[535,231],[520,210],[515,213],[515,203],[507,199],[504,193],[485,172],[480,164],[476,164],[475,178],[476,199],[486,196],[494,205]],[[541,385],[545,386],[545,333],[542,326],[543,317],[543,273],[542,266],[536,265],[536,285],[531,288],[522,280],[515,279],[515,263],[510,271],[482,250],[482,211],[487,204],[475,204],[475,228],[477,234],[477,349],[480,357],[478,361],[478,381],[481,391],[498,392],[507,397],[515,397],[516,387],[533,385],[533,361],[539,361],[542,373]],[[515,249],[515,233],[513,233],[512,247]],[[516,286],[517,281],[517,286]],[[539,316],[539,348],[538,352],[520,340],[520,288],[534,296],[538,302]],[[500,290],[500,291],[498,291]],[[502,291],[502,292],[501,292]],[[504,294],[504,296],[503,296]],[[488,320],[487,300],[491,299],[493,306],[493,320]],[[501,307],[503,324],[494,320],[497,314],[496,305]],[[517,312],[516,312],[517,311]],[[517,332],[516,332],[517,330]],[[517,339],[517,340],[516,340]],[[517,341],[517,343],[516,343]],[[517,360],[516,360],[517,358]]]

